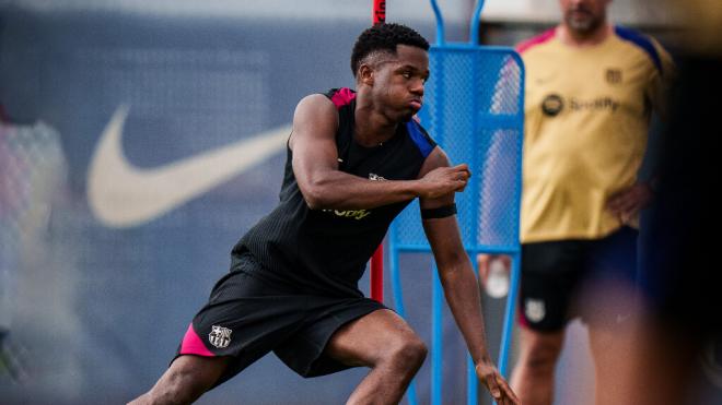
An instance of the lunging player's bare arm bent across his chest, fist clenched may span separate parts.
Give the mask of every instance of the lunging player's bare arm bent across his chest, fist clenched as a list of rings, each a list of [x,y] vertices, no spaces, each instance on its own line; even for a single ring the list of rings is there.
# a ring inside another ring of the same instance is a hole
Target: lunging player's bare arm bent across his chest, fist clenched
[[[289,145],[293,174],[311,209],[373,209],[416,196],[434,198],[466,187],[466,165],[443,167],[415,180],[372,181],[338,169],[338,112],[321,94],[303,98]]]

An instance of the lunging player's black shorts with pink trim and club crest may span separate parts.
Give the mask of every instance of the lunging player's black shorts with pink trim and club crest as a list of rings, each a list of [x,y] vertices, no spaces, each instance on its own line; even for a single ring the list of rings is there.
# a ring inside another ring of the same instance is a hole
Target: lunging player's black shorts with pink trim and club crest
[[[259,271],[264,271],[260,264],[244,253],[234,270],[213,287],[208,303],[188,326],[176,358],[233,357],[218,384],[271,350],[303,377],[350,368],[324,355],[326,344],[346,323],[386,307],[364,297],[300,294],[291,286],[272,285],[254,276]]]

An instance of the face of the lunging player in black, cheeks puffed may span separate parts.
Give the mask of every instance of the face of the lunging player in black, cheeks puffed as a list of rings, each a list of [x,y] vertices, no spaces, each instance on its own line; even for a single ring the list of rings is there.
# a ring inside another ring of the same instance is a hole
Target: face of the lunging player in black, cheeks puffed
[[[420,48],[398,45],[396,57],[376,67],[377,88],[389,115],[408,121],[423,104],[423,86],[429,79],[429,53]]]

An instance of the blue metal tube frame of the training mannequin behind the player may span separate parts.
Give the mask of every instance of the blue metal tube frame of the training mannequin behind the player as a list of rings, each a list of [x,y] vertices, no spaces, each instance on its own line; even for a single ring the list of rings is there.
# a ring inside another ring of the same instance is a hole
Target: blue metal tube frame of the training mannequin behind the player
[[[478,41],[478,33],[479,33],[479,21],[480,21],[480,13],[481,9],[484,8],[484,0],[479,0],[476,3],[473,16],[471,16],[471,22],[470,22],[470,40],[468,44],[445,44],[444,40],[444,21],[443,16],[441,14],[441,11],[439,9],[439,5],[436,4],[435,0],[431,0],[431,7],[433,9],[435,19],[436,19],[436,44],[431,47],[430,50],[430,63],[432,63],[432,70],[434,70],[434,75],[438,76],[443,76],[447,72],[444,72],[443,64],[439,63],[439,65],[433,65],[435,62],[435,57],[439,56],[440,53],[445,53],[445,52],[458,52],[458,53],[466,53],[468,52],[469,56],[468,58],[474,58],[475,56],[478,56],[479,53],[484,55],[504,55],[509,56],[514,59],[514,62],[517,63],[520,67],[520,75],[521,75],[521,90],[519,97],[516,99],[516,108],[517,111],[520,111],[516,116],[510,117],[509,115],[494,115],[494,114],[473,114],[469,119],[473,120],[473,128],[481,128],[480,122],[484,122],[486,127],[484,128],[504,128],[504,129],[510,129],[510,128],[517,128],[523,131],[523,111],[524,111],[524,91],[523,91],[523,84],[524,84],[524,64],[522,62],[521,57],[513,51],[513,49],[508,48],[508,47],[494,47],[494,46],[479,46]],[[477,74],[476,70],[473,72],[474,75]],[[445,88],[444,83],[442,81],[435,81],[433,83],[436,87],[434,87],[434,94],[438,95],[443,95]],[[443,105],[444,100],[443,97],[439,97],[436,102],[439,105]],[[479,111],[481,108],[479,107],[479,103],[477,100],[478,97],[474,97],[473,103],[474,104],[474,111]],[[441,108],[441,107],[440,107]],[[443,128],[444,127],[444,118],[441,117],[435,117],[438,127]],[[436,131],[433,133],[434,138],[436,139],[438,143],[440,145],[444,145],[447,140],[445,140],[445,131]],[[475,132],[475,136],[477,136]],[[520,135],[516,139],[516,144],[515,146],[520,151],[517,154],[519,158],[519,167],[520,170],[516,172],[516,179],[515,182],[516,184],[514,186],[516,188],[515,190],[515,199],[514,199],[514,214],[515,214],[515,224],[516,226],[514,229],[511,229],[510,235],[513,235],[513,240],[515,243],[512,245],[479,245],[475,242],[473,246],[469,246],[468,243],[465,243],[464,248],[469,254],[476,255],[477,253],[499,253],[499,254],[508,254],[512,258],[512,272],[511,272],[511,284],[510,284],[510,293],[506,299],[506,306],[505,306],[505,317],[504,317],[504,325],[503,325],[503,332],[502,332],[502,342],[501,342],[501,348],[500,348],[500,355],[499,355],[499,370],[503,376],[508,374],[508,357],[509,357],[509,352],[511,348],[511,341],[512,341],[512,329],[513,329],[513,318],[514,318],[514,311],[515,311],[515,303],[517,300],[517,290],[519,290],[519,282],[520,282],[520,267],[521,267],[521,247],[519,243],[519,214],[520,214],[520,206],[521,206],[521,183],[522,183],[522,172],[521,172],[521,150],[522,150],[522,142],[523,142],[523,136]],[[479,141],[475,139],[474,144],[478,144]],[[471,165],[473,171],[474,169],[478,169],[481,167],[482,162],[478,162],[478,158],[476,158],[477,155],[474,155],[474,160],[468,162]],[[479,170],[476,170],[479,171]],[[473,178],[474,179],[474,178]],[[476,177],[477,181],[471,181],[467,186],[467,193],[470,193],[470,195],[479,195],[479,188],[481,186],[481,177],[477,176]],[[418,210],[418,205],[411,204],[407,210]],[[478,241],[478,226],[476,224],[479,223],[479,215],[480,212],[479,210],[474,210],[473,211],[473,218],[470,218],[469,223],[473,229],[473,236],[474,240]],[[403,298],[403,290],[401,290],[401,283],[400,283],[400,274],[399,274],[399,253],[400,252],[430,252],[430,246],[427,241],[424,242],[414,242],[414,243],[408,243],[408,242],[401,242],[399,238],[399,233],[401,231],[401,225],[398,224],[398,221],[395,221],[394,224],[392,225],[391,231],[389,231],[389,238],[388,238],[388,251],[389,251],[389,259],[391,259],[391,279],[392,279],[392,289],[393,289],[393,296],[394,296],[394,305],[396,306],[396,311],[401,315],[406,317],[406,311],[404,308],[404,298]],[[475,261],[474,261],[475,262]],[[475,270],[476,270],[476,264],[475,264]],[[436,272],[435,264],[432,266],[432,273],[433,273],[433,281],[432,281],[432,312],[431,312],[431,323],[432,323],[432,337],[431,337],[431,403],[432,404],[441,404],[442,403],[442,347],[443,347],[443,336],[442,336],[442,331],[443,331],[443,319],[442,319],[442,305],[444,301],[443,298],[443,290],[441,286],[441,282],[439,279],[439,275]],[[478,276],[478,275],[477,275]],[[468,356],[467,360],[467,403],[468,404],[476,404],[477,403],[477,392],[478,392],[478,379],[476,378],[476,371],[475,371],[475,365],[471,361],[470,356]],[[411,385],[409,386],[409,390],[407,392],[407,398],[410,404],[417,404],[418,398],[417,398],[417,392],[416,392],[416,384],[414,381],[411,382]]]

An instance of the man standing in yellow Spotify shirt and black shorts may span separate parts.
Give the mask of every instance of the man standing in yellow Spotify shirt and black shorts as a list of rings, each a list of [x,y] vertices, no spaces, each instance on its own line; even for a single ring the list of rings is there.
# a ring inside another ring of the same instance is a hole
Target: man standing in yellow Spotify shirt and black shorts
[[[517,48],[526,67],[522,329],[511,382],[527,405],[552,403],[574,318],[589,329],[594,402],[618,397],[613,382],[627,373],[638,215],[653,195],[638,170],[674,68],[654,39],[610,24],[609,3],[560,0],[559,25]],[[489,261],[478,258],[481,279]]]

